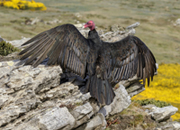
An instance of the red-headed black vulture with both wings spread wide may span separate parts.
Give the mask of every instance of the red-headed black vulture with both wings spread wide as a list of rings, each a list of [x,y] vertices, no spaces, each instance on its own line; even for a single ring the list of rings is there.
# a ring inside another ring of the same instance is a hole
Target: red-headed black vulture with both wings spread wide
[[[72,24],[64,24],[44,31],[23,45],[19,53],[25,65],[37,67],[44,59],[47,65],[60,65],[63,72],[71,72],[84,79],[84,93],[90,92],[99,103],[109,105],[115,93],[113,87],[121,80],[137,77],[148,85],[156,72],[156,60],[148,47],[136,36],[108,43],[100,39],[93,21],[86,39]]]

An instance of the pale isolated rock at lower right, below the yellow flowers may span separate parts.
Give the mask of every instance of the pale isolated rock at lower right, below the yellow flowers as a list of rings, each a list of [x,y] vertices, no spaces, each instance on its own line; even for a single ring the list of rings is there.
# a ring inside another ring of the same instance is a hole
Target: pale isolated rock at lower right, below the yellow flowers
[[[163,108],[152,107],[151,112],[149,113],[152,118],[158,122],[168,120],[172,115],[178,111],[178,108],[173,106],[167,106]]]

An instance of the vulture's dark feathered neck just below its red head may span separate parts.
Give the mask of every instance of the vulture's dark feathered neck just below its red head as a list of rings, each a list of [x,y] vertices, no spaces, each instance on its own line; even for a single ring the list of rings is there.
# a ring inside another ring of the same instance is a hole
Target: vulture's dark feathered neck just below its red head
[[[89,31],[88,39],[91,39],[95,43],[95,45],[97,45],[97,46],[102,45],[101,39],[100,39],[100,37],[99,37],[99,35],[95,29]]]

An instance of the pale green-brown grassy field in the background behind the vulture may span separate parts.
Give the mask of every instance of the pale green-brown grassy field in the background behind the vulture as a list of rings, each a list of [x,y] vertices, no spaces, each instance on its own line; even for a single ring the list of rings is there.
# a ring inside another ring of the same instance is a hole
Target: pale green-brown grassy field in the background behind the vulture
[[[35,25],[21,24],[26,19],[38,17],[42,20],[62,20],[61,24],[72,23],[76,20],[86,22],[94,20],[99,28],[110,29],[113,24],[126,27],[134,22],[140,22],[136,36],[141,38],[152,50],[157,63],[179,63],[180,61],[180,27],[174,27],[173,21],[179,18],[180,2],[155,0],[129,1],[97,1],[83,2],[81,0],[48,1],[39,0],[47,6],[46,11],[22,11],[0,8],[0,35],[7,40],[20,39],[21,36],[34,35],[55,27],[59,24]],[[174,4],[176,2],[176,4]],[[142,6],[142,8],[138,8]],[[76,8],[77,7],[77,8]],[[76,8],[76,9],[75,9]],[[166,11],[169,8],[170,11]],[[82,17],[74,14],[80,13]],[[11,35],[13,34],[13,35]]]

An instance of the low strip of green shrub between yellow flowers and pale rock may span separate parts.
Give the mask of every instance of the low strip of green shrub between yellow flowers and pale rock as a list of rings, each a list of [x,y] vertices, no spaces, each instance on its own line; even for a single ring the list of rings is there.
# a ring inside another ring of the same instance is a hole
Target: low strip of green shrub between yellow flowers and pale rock
[[[154,100],[154,99],[144,99],[144,100],[133,100],[134,102],[140,104],[141,106],[145,106],[148,104],[154,104],[157,107],[165,107],[165,106],[170,106],[170,103],[164,102],[164,101],[159,101],[159,100]]]

